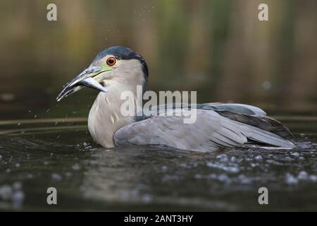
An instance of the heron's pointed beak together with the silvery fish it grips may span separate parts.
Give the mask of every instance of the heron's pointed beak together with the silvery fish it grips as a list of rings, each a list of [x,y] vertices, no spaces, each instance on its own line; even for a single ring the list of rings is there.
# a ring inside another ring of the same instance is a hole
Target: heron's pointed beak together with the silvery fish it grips
[[[63,86],[63,90],[61,90],[61,93],[58,94],[56,100],[60,101],[68,95],[75,93],[84,87],[93,88],[95,90],[107,93],[108,89],[100,84],[100,75],[105,71],[111,71],[111,69],[105,69],[101,66],[89,66],[89,68],[82,71],[82,73],[76,76],[76,78]]]

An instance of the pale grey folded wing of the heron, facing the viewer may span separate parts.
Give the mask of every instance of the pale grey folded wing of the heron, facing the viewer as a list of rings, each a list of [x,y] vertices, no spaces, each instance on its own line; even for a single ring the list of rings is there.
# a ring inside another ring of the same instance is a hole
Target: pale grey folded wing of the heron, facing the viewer
[[[182,112],[182,109],[168,109]],[[256,141],[282,148],[294,145],[275,133],[223,117],[218,112],[197,109],[197,120],[184,124],[182,116],[154,116],[116,131],[117,145],[168,145],[184,150],[217,150]]]

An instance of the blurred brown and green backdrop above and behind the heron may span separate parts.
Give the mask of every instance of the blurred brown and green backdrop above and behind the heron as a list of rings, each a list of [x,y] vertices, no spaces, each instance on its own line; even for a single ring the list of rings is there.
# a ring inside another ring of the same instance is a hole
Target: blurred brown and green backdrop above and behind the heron
[[[57,21],[46,6],[57,5]],[[268,4],[269,21],[258,20]],[[150,90],[197,90],[316,114],[317,1],[0,1],[0,119],[87,117],[97,92],[56,95],[112,45],[142,54]]]

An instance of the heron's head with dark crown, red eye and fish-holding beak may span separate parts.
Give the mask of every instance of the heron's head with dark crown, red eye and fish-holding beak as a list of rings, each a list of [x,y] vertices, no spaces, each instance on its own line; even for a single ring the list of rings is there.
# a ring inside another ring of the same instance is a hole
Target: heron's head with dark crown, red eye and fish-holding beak
[[[84,87],[107,93],[106,83],[109,81],[117,85],[136,80],[146,83],[148,74],[147,63],[141,55],[127,47],[108,47],[97,54],[87,69],[63,86],[56,100],[60,101]]]

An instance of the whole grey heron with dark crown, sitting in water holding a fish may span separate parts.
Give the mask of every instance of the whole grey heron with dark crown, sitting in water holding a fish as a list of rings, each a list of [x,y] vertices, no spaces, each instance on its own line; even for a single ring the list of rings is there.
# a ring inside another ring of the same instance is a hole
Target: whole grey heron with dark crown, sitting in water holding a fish
[[[209,103],[197,105],[197,119],[184,124],[182,116],[137,117],[121,114],[121,93],[137,95],[137,85],[147,90],[148,68],[143,57],[127,47],[109,47],[67,83],[57,100],[83,87],[101,92],[88,117],[89,132],[106,148],[116,145],[167,145],[183,150],[217,150],[223,147],[268,145],[294,148],[292,133],[280,122],[250,105]],[[139,105],[136,101],[136,105]],[[141,104],[142,105],[142,104]],[[182,111],[169,107],[167,111]]]

